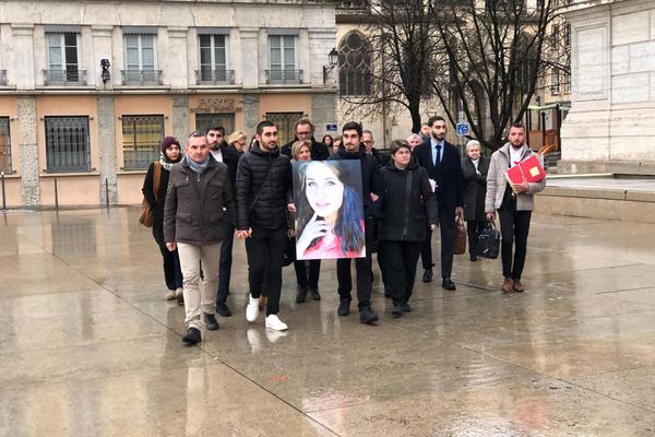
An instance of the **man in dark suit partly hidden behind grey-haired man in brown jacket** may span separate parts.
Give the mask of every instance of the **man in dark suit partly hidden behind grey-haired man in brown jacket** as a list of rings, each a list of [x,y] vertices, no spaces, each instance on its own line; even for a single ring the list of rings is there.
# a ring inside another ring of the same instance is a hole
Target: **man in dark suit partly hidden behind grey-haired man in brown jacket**
[[[227,165],[229,181],[233,190],[237,180],[237,163],[239,154],[225,142],[225,129],[221,126],[212,126],[206,131],[210,152],[216,161]],[[227,216],[226,216],[227,217]],[[216,312],[223,317],[231,316],[231,311],[225,303],[229,294],[229,277],[231,275],[231,251],[235,241],[235,226],[231,221],[225,218],[225,237],[221,246],[221,261],[218,261],[218,290],[216,292]]]

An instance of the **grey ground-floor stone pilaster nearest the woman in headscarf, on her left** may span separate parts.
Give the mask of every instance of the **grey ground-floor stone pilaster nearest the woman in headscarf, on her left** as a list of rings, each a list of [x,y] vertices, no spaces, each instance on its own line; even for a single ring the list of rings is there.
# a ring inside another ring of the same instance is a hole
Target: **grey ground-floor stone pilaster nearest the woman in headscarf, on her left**
[[[116,139],[116,117],[114,96],[99,95],[98,110],[98,152],[100,160],[100,203],[107,202],[107,186],[109,187],[109,204],[118,204],[118,176],[116,147],[120,142]]]

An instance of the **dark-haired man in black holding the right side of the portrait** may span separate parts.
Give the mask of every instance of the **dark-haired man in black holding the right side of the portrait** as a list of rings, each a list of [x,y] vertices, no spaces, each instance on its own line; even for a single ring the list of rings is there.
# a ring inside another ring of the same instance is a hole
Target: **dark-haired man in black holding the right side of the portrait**
[[[371,250],[370,243],[373,240],[373,226],[369,217],[372,216],[373,200],[378,199],[376,192],[380,187],[380,170],[378,161],[366,154],[366,149],[361,143],[361,126],[355,121],[344,125],[343,143],[338,146],[338,152],[333,160],[359,160],[361,163],[361,194],[364,197],[364,216],[366,235],[366,258],[355,259],[355,269],[357,271],[357,298],[359,300],[359,321],[362,323],[372,323],[378,320],[378,315],[371,308]],[[350,277],[350,259],[342,258],[336,260],[336,277],[338,281],[338,310],[340,316],[350,314],[350,291],[353,290],[353,280]]]

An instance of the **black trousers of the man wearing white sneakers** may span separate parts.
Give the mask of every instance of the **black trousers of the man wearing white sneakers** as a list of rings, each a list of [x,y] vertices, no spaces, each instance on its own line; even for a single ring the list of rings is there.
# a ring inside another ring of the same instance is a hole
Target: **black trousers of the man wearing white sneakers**
[[[279,294],[282,292],[282,263],[286,247],[287,229],[264,229],[252,227],[252,236],[246,238],[248,255],[248,284],[250,295],[260,297],[262,283],[266,282],[269,306],[266,316],[279,310]]]

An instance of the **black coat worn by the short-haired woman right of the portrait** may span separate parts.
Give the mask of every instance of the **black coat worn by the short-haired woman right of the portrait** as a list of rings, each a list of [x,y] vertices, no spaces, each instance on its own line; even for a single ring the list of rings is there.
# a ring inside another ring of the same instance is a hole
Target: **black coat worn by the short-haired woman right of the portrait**
[[[422,241],[428,224],[437,225],[437,197],[428,172],[412,161],[407,168],[396,168],[394,162],[382,168],[380,240]]]

